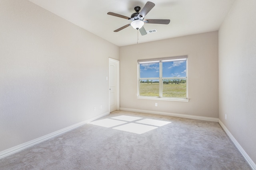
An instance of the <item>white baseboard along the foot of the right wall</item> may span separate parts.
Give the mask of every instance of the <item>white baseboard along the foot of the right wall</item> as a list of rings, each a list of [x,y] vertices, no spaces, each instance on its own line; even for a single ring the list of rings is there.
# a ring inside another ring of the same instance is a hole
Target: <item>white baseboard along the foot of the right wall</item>
[[[253,170],[256,170],[256,164],[252,161],[252,159],[250,158],[250,156],[245,152],[245,150],[241,147],[241,145],[238,143],[238,141],[236,141],[236,139],[233,137],[233,135],[230,133],[230,131],[228,131],[228,129],[226,128],[226,126],[222,123],[222,121],[220,121],[219,119],[219,124],[222,127],[222,129],[226,132],[226,134],[228,135],[228,137],[231,139],[231,141],[234,143],[234,145],[236,146],[236,148],[239,150],[239,152],[242,154],[242,156],[244,157],[244,159],[246,160],[246,162],[250,165],[250,167]]]

